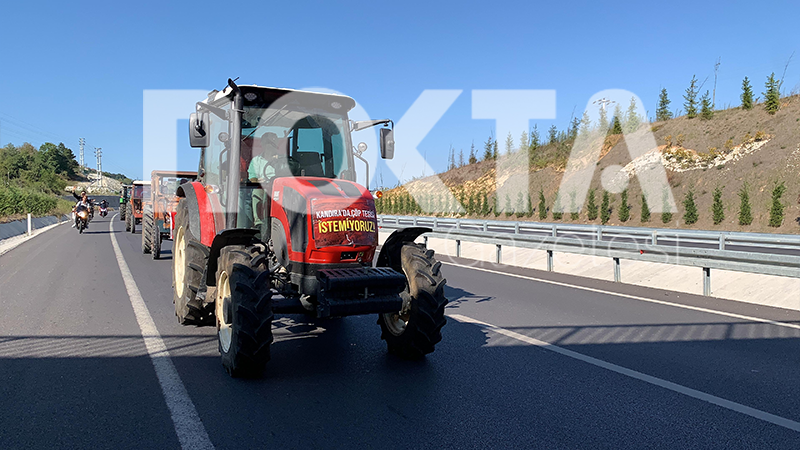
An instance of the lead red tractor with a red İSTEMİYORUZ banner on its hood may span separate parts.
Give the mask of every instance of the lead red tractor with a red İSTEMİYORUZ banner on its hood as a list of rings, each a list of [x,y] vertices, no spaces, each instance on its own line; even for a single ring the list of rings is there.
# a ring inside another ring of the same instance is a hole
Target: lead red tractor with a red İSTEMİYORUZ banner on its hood
[[[445,324],[445,280],[433,250],[394,232],[378,245],[375,204],[356,181],[346,96],[237,86],[228,80],[190,116],[201,148],[198,180],[178,188],[173,248],[175,314],[216,325],[231,376],[258,376],[270,359],[274,314],[318,318],[377,314],[390,352],[420,358]],[[369,166],[367,165],[367,173]],[[373,261],[376,262],[373,265]]]

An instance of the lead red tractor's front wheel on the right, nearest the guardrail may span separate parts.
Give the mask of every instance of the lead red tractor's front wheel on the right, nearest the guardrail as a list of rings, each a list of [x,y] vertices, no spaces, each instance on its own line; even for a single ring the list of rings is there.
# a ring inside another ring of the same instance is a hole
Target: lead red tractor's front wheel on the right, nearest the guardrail
[[[379,314],[378,325],[390,353],[418,359],[431,353],[442,340],[442,327],[447,322],[446,280],[440,272],[442,263],[423,244],[403,245],[400,260],[406,274],[406,289],[400,293],[403,309]]]

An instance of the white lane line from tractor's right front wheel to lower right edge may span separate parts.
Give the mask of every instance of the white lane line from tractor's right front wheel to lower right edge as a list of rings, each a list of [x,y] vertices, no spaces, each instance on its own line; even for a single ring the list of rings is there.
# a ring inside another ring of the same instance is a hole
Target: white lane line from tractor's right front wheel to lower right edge
[[[498,326],[492,325],[490,323],[481,322],[480,320],[473,319],[471,317],[462,316],[460,314],[448,314],[448,317],[452,317],[453,319],[458,320],[459,322],[471,323],[473,325],[477,325],[481,328],[485,328],[487,330],[491,330],[495,333],[502,334],[504,336],[508,336],[512,339],[516,339],[518,341],[524,342],[526,344],[535,345],[539,348],[550,350],[551,352],[558,353],[559,355],[567,356],[573,359],[577,359],[579,361],[583,361],[585,363],[589,363],[593,366],[601,367],[603,369],[610,370],[612,372],[616,372],[620,375],[625,375],[631,378],[635,378],[640,381],[644,381],[645,383],[652,384],[654,386],[659,386],[664,389],[669,389],[670,391],[677,392],[679,394],[683,394],[697,400],[702,400],[704,402],[711,403],[713,405],[717,405],[723,407],[725,409],[730,409],[731,411],[736,411],[738,413],[742,413],[748,415],[750,417],[754,417],[756,419],[763,420],[765,422],[773,423],[775,425],[788,428],[793,431],[800,431],[800,422],[795,422],[794,420],[787,419],[785,417],[776,416],[775,414],[770,414],[766,411],[761,411],[760,409],[751,408],[749,406],[742,405],[741,403],[732,402],[730,400],[725,400],[724,398],[717,397],[715,395],[707,394],[702,391],[698,391],[696,389],[688,388],[686,386],[682,386],[677,383],[673,383],[671,381],[662,380],[661,378],[656,378],[651,375],[647,375],[641,372],[637,372],[635,370],[627,369],[622,366],[618,366],[616,364],[612,364],[610,362],[606,362],[597,358],[592,358],[591,356],[586,356],[581,353],[573,352],[572,350],[567,350],[565,348],[559,347],[557,345],[550,344],[549,342],[540,341],[538,339],[534,339],[529,336],[525,336],[524,334],[516,333],[514,331],[506,330],[505,328],[500,328]]]

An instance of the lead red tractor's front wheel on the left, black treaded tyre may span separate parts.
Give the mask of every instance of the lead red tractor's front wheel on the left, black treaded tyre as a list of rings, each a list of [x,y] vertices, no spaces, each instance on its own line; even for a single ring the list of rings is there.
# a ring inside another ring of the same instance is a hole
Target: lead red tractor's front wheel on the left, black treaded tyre
[[[260,264],[263,247],[230,245],[220,252],[215,302],[219,352],[232,377],[258,377],[270,359],[272,291]]]

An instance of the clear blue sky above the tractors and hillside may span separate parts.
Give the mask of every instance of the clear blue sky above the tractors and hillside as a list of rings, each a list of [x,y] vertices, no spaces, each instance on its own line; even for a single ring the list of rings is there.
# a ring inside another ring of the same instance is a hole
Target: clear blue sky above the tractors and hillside
[[[800,85],[797,2],[296,5],[4,4],[0,144],[59,140],[77,154],[84,137],[89,150],[103,148],[105,170],[141,177],[146,89],[221,89],[228,77],[321,86],[395,120],[425,89],[463,89],[419,146],[442,170],[451,145],[480,149],[493,130],[493,121],[471,118],[473,89],[555,89],[557,118],[531,122],[544,130],[565,127],[603,89],[636,93],[652,115],[666,87],[676,109],[693,74],[712,86],[717,58],[718,106],[738,104],[744,76],[760,94],[795,51],[784,89]],[[180,152],[182,168],[195,169],[192,150]]]

